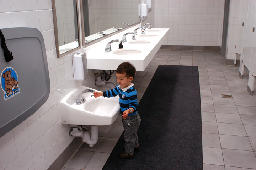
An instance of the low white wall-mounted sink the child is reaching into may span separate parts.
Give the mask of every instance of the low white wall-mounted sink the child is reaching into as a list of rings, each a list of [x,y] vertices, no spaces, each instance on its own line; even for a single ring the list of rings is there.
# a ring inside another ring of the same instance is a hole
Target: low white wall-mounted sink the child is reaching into
[[[80,86],[71,91],[60,102],[60,119],[62,124],[70,125],[111,125],[120,115],[118,96],[112,98],[91,97],[92,92],[84,95],[85,102],[77,105],[80,92],[89,87]],[[95,90],[96,91],[96,90]]]

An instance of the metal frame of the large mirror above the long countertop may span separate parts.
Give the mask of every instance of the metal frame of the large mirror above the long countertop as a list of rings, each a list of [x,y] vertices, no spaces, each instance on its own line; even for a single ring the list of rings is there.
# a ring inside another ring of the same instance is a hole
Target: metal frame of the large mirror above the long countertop
[[[140,0],[141,1],[141,0]],[[139,4],[140,4],[140,1],[139,1]],[[125,28],[122,28],[122,29],[120,29],[120,30],[117,30],[117,31],[115,31],[115,32],[113,32],[113,33],[110,33],[110,34],[107,34],[107,35],[105,35],[105,36],[103,36],[103,37],[100,37],[100,38],[97,38],[97,39],[95,39],[95,40],[92,40],[91,42],[89,42],[89,43],[85,43],[85,35],[84,35],[84,12],[83,12],[83,10],[82,10],[82,0],[80,0],[80,10],[81,10],[81,22],[82,22],[82,46],[83,46],[83,48],[86,48],[87,46],[90,46],[90,45],[92,45],[92,44],[95,44],[95,43],[97,43],[97,42],[100,42],[101,40],[103,40],[103,39],[106,39],[106,38],[108,38],[108,37],[111,37],[112,35],[115,35],[115,34],[117,34],[117,33],[119,33],[119,32],[121,32],[121,31],[124,31],[124,30],[126,30],[126,29],[129,29],[129,28],[131,28],[131,27],[133,27],[133,26],[135,26],[135,25],[138,25],[138,24],[140,24],[140,22],[141,22],[141,16],[139,16],[139,22],[137,22],[137,23],[134,23],[134,24],[132,24],[132,25],[130,25],[130,26],[128,26],[128,27],[125,27]],[[140,10],[140,9],[139,9]],[[140,12],[139,12],[140,13]]]

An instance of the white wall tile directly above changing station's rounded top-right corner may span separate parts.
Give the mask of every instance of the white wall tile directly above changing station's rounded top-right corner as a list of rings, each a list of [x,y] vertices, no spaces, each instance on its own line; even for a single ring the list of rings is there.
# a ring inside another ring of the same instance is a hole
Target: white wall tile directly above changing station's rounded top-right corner
[[[26,11],[28,27],[41,31],[38,11]]]

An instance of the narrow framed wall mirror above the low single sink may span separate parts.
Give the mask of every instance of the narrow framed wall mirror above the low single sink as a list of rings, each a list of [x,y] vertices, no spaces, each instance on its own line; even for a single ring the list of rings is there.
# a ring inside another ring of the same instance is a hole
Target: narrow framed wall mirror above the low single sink
[[[57,57],[79,48],[78,0],[52,0]]]

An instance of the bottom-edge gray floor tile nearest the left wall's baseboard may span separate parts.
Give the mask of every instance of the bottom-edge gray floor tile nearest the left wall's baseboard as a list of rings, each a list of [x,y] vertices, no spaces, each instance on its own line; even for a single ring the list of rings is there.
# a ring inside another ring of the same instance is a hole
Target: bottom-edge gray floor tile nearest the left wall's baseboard
[[[78,150],[78,152],[76,152],[73,158],[70,159],[66,167],[84,169],[85,166],[89,163],[93,155],[94,155],[94,152],[86,151],[86,150]]]

